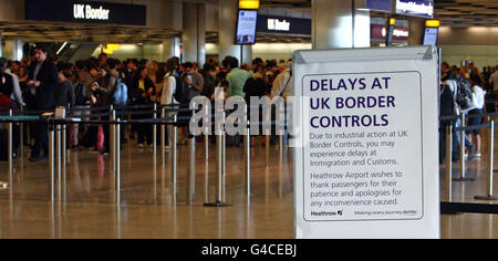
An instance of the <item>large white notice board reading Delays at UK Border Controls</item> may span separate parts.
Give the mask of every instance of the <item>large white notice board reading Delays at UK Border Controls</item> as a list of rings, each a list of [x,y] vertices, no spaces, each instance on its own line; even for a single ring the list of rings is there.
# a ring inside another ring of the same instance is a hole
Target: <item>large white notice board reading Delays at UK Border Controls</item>
[[[293,61],[295,237],[438,238],[437,50]]]

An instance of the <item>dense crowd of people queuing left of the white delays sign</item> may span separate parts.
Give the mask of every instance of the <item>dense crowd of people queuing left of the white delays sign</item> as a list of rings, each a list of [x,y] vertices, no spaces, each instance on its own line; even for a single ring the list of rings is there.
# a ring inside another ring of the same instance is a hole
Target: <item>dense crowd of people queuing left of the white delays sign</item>
[[[1,59],[0,77],[0,107],[49,111],[62,106],[69,115],[83,117],[93,114],[92,107],[180,103],[175,96],[177,81],[188,85],[190,96],[203,95],[211,101],[217,98],[217,87],[224,90],[218,95],[224,95],[225,100],[240,96],[248,102],[251,96],[286,98],[292,94],[291,60],[264,62],[256,59],[249,65],[227,56],[221,63],[209,60],[199,66],[190,62],[180,63],[178,58],[170,58],[166,63],[136,59],[118,61],[102,53],[98,58],[71,64],[51,60],[48,50],[38,46],[29,60]],[[151,118],[152,113],[132,117]],[[30,138],[25,134],[23,138],[32,148],[30,161],[48,159],[46,123],[31,124],[29,128]],[[136,139],[139,148],[153,144],[151,125],[136,124],[131,130],[129,136],[122,135],[123,143],[127,143],[127,138]],[[87,148],[106,155],[110,152],[108,137],[108,125],[74,124],[70,127],[68,147]],[[252,145],[256,142],[256,138],[251,139]],[[180,133],[179,144],[186,144],[185,133]]]

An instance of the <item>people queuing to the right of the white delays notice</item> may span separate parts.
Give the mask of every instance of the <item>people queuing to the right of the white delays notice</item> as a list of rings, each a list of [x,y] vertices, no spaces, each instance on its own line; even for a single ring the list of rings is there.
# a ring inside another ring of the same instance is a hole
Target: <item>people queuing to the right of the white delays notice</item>
[[[498,65],[484,67],[481,72],[473,62],[460,67],[450,66],[447,62],[442,63],[442,92],[440,92],[440,115],[460,116],[466,115],[466,123],[461,123],[461,117],[452,121],[442,121],[439,161],[446,158],[446,126],[477,126],[481,125],[486,113],[496,112],[496,101],[498,96]],[[481,132],[479,129],[469,130],[461,139],[460,133],[454,135],[453,157],[454,161],[460,160],[460,144],[465,143],[466,158],[481,158]],[[465,160],[465,159],[461,159]]]

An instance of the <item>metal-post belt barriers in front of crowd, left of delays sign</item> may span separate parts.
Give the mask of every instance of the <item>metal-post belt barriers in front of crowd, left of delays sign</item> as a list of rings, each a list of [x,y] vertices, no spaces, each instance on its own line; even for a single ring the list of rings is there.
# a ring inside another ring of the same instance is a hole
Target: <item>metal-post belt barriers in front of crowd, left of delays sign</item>
[[[148,109],[151,111],[142,111],[142,109]],[[1,111],[1,109],[0,109]],[[45,122],[49,125],[49,171],[50,171],[50,180],[51,180],[51,191],[50,196],[51,199],[54,200],[55,198],[55,180],[59,178],[59,180],[62,178],[62,173],[64,174],[65,179],[65,165],[68,159],[70,158],[69,152],[66,152],[65,148],[65,142],[63,140],[65,138],[65,132],[66,126],[71,124],[82,124],[82,125],[112,125],[115,127],[112,127],[111,130],[111,149],[112,149],[112,156],[113,156],[113,170],[116,173],[116,202],[120,202],[121,197],[121,155],[120,155],[120,132],[122,125],[128,125],[128,124],[151,124],[154,125],[156,128],[157,125],[160,126],[172,126],[173,128],[173,155],[172,155],[172,173],[173,173],[173,179],[174,179],[174,189],[173,189],[173,200],[176,203],[176,187],[177,187],[177,128],[180,126],[185,126],[186,123],[189,123],[191,119],[191,116],[178,116],[178,115],[172,115],[169,117],[166,116],[166,113],[187,113],[191,112],[193,115],[195,114],[195,109],[188,108],[188,105],[184,104],[172,104],[172,105],[144,105],[144,106],[108,106],[108,107],[91,107],[91,108],[77,108],[72,109],[74,111],[87,111],[94,114],[91,115],[70,115],[66,118],[55,118],[53,116],[54,111],[19,111],[15,112],[17,114],[13,115],[13,111],[10,109],[9,114],[6,116],[1,116],[0,113],[0,123],[9,123],[9,124],[19,124],[19,123],[37,123],[37,122]],[[243,140],[243,173],[245,173],[245,194],[247,195],[248,199],[250,198],[250,166],[251,166],[251,157],[250,157],[250,128],[251,126],[273,126],[273,125],[284,125],[286,122],[279,122],[279,121],[270,121],[270,122],[252,122],[250,123],[248,119],[248,108],[246,106],[245,111],[245,117],[243,117],[243,124],[245,126],[245,140]],[[51,114],[50,116],[46,116]],[[43,114],[43,115],[41,115]],[[154,118],[145,118],[145,119],[121,119],[122,116],[131,116],[131,115],[152,115]],[[226,124],[226,113],[217,113],[215,115],[211,115],[216,118],[222,118],[222,125]],[[93,121],[101,117],[108,117],[110,121]],[[203,116],[199,116],[203,117]],[[83,121],[83,119],[90,119],[90,121]],[[216,124],[216,123],[214,123]],[[10,130],[12,133],[12,130]],[[155,132],[156,133],[156,132]],[[162,135],[165,136],[165,129],[162,128]],[[206,135],[206,143],[208,142],[209,134]],[[222,132],[220,134],[217,134],[217,140],[216,140],[216,152],[217,152],[217,195],[216,195],[216,202],[215,203],[206,203],[205,206],[208,207],[230,207],[230,203],[225,202],[225,177],[226,177],[226,133]],[[269,135],[267,134],[267,167],[269,164]],[[157,135],[154,135],[154,138],[156,138]],[[114,142],[112,142],[114,140]],[[164,140],[164,138],[163,138]],[[63,145],[64,144],[64,145]],[[154,140],[154,144],[156,146],[156,140]],[[9,147],[12,147],[12,140],[9,143]],[[64,147],[64,148],[63,148]],[[206,159],[208,159],[208,149],[209,146],[206,145]],[[188,168],[188,176],[187,176],[187,205],[193,203],[193,195],[195,192],[195,136],[189,135],[189,163],[190,167]],[[154,155],[156,157],[156,147],[154,149]],[[164,153],[164,146],[163,146],[163,153]],[[56,161],[55,161],[56,160]],[[10,173],[12,173],[13,165],[12,159],[9,160],[10,163]],[[62,166],[61,166],[62,165]],[[55,171],[58,175],[55,176]],[[3,182],[0,182],[0,187],[2,186],[9,186],[9,184],[3,185]],[[65,184],[64,184],[65,186]],[[64,189],[65,191],[65,189]]]

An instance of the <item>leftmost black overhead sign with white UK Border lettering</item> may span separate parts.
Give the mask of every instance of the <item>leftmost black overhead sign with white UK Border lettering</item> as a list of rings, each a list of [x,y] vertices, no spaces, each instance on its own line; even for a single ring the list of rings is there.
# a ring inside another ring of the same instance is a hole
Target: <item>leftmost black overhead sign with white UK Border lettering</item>
[[[91,4],[92,8],[100,7],[110,10],[108,20],[89,20],[74,18],[74,4]],[[145,27],[147,22],[147,8],[138,4],[125,4],[97,1],[75,0],[25,0],[25,20],[71,22],[71,23],[96,23],[96,24],[123,24]]]

